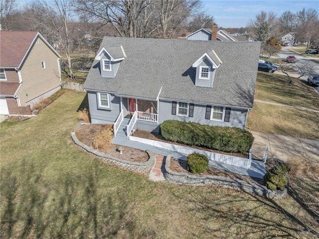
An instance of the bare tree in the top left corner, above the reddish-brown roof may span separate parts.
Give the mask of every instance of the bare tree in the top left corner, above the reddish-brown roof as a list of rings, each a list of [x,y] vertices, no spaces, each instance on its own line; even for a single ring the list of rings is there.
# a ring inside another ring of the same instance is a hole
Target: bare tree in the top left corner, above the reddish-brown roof
[[[0,29],[9,30],[14,18],[11,14],[15,10],[15,0],[1,0],[0,2]]]

